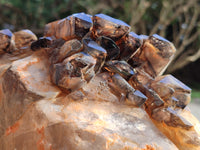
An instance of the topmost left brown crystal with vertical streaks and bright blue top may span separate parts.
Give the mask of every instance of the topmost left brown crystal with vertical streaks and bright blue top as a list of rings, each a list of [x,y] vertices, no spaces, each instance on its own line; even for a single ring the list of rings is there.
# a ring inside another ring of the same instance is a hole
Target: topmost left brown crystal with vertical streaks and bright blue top
[[[54,21],[45,26],[45,36],[54,36],[59,39],[69,40],[83,38],[92,26],[92,16],[85,13],[77,13],[64,19]]]

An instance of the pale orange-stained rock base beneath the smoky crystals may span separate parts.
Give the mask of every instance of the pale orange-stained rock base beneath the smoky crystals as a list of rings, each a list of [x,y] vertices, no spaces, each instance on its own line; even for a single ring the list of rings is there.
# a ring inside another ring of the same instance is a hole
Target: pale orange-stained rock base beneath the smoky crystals
[[[44,52],[4,57],[0,149],[177,149],[142,108],[112,102],[105,75],[66,96],[50,82]]]

